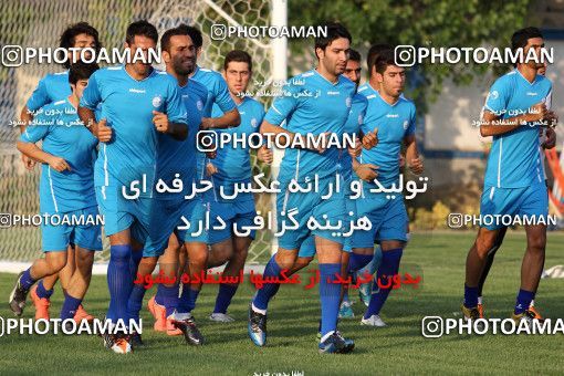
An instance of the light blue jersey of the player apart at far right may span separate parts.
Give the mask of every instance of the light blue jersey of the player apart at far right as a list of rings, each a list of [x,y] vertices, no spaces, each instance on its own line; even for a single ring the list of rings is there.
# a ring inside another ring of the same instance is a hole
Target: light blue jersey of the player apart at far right
[[[551,91],[552,83],[545,76],[536,75],[534,82],[530,83],[518,70],[513,70],[493,83],[483,109],[506,119],[546,101]],[[539,125],[526,124],[493,136],[484,186],[522,188],[543,184],[539,147]]]

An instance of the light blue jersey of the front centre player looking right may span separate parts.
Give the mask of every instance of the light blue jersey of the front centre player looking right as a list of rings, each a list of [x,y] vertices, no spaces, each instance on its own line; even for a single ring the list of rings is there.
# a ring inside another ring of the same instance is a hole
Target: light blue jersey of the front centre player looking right
[[[264,119],[273,125],[286,121],[285,128],[300,134],[305,140],[314,136],[333,133],[342,139],[345,123],[351,112],[355,84],[340,75],[335,83],[317,71],[302,73],[289,81],[282,96],[276,97]],[[334,176],[338,171],[340,149],[336,146],[323,153],[305,148],[286,148],[280,166],[279,180],[311,180]]]

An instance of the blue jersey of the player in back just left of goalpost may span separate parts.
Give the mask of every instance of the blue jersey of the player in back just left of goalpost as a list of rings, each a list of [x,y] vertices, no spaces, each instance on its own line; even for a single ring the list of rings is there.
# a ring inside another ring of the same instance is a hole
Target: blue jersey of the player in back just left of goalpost
[[[217,129],[218,137],[221,133],[229,133],[234,137],[249,137],[259,134],[262,118],[264,117],[264,107],[262,104],[250,97],[244,97],[237,108],[241,115],[241,124],[237,127],[227,129]],[[212,117],[221,116],[223,113],[219,106],[213,105]],[[232,138],[234,138],[232,137]],[[238,138],[239,138],[238,137]],[[251,157],[250,149],[242,148],[241,144],[230,143],[228,147],[218,148],[216,159],[211,163],[218,168],[218,173],[212,176],[213,186],[219,189],[223,187],[223,191],[231,195],[236,182],[251,181]],[[220,197],[218,196],[218,199]]]

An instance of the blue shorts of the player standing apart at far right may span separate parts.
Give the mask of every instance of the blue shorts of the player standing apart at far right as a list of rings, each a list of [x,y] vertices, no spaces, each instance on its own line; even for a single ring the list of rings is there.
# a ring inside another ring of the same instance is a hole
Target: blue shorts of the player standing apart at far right
[[[494,216],[543,217],[546,223],[549,220],[546,185],[543,182],[523,188],[484,187],[480,201],[480,216],[483,221],[481,227],[488,230],[504,227],[501,219],[494,220]],[[485,216],[492,218],[485,219]]]

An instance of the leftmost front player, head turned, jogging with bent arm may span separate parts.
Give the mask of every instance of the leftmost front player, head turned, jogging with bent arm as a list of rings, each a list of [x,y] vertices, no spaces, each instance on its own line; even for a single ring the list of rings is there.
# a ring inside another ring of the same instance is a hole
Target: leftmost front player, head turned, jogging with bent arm
[[[53,218],[41,226],[45,257],[20,273],[10,295],[10,309],[18,316],[23,313],[31,286],[42,278],[56,275],[65,267],[69,246],[73,243],[76,268],[65,291],[61,318],[75,317],[90,284],[94,251],[102,250],[93,170],[97,139],[80,124],[76,115],[88,77],[97,69],[96,64],[73,64],[67,74],[72,94],[43,106],[18,142],[21,153],[42,164],[40,210],[41,215]],[[40,140],[42,148],[35,145]]]

